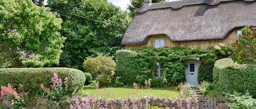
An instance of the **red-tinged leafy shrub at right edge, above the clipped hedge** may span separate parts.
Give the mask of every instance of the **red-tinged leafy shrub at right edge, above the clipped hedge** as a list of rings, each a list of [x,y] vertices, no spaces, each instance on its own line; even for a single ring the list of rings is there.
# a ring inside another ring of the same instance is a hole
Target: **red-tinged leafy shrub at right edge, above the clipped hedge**
[[[256,64],[256,28],[242,28],[242,35],[237,36],[234,60],[239,63]]]

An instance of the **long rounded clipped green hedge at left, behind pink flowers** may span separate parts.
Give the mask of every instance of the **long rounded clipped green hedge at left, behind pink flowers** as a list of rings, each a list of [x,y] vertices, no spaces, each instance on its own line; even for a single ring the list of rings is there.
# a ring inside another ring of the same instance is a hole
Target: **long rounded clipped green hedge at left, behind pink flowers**
[[[38,94],[41,83],[50,88],[53,72],[56,72],[58,78],[63,81],[68,77],[70,93],[83,86],[86,80],[81,70],[73,68],[2,68],[0,69],[0,86],[7,86],[8,82],[14,87],[22,84],[25,91]]]

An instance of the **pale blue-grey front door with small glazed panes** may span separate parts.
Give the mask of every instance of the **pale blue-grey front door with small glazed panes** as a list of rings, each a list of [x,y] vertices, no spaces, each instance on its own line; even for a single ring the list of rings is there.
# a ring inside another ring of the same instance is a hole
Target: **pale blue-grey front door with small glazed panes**
[[[193,87],[198,86],[198,68],[200,66],[200,61],[198,60],[189,60],[184,61],[185,63],[185,75],[186,81],[185,84],[190,84]]]

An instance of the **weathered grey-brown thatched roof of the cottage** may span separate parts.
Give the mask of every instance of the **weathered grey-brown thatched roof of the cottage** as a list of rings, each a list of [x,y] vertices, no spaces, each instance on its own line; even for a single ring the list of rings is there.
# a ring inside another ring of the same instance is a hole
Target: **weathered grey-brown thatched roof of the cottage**
[[[122,44],[146,43],[151,35],[171,41],[219,40],[237,27],[256,25],[255,0],[184,0],[152,3],[140,8]]]

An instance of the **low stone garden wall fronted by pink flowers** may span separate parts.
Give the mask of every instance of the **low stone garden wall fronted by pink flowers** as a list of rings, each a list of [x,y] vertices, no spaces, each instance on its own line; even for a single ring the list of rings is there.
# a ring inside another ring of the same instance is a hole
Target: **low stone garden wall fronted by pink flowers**
[[[79,100],[79,103],[78,103]],[[119,98],[106,99],[94,97],[76,98],[74,108],[84,105],[85,108],[147,108],[148,105],[158,106],[162,108],[198,108],[197,97],[192,98],[158,98],[158,97],[142,97],[142,98]]]

